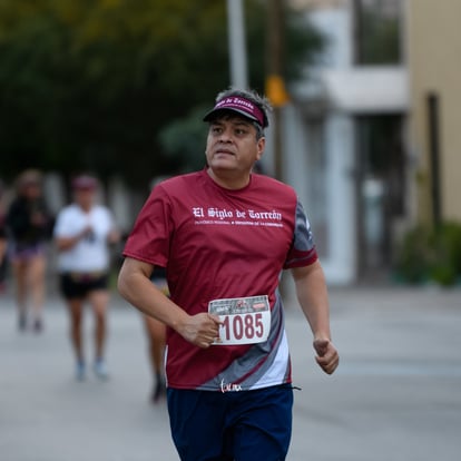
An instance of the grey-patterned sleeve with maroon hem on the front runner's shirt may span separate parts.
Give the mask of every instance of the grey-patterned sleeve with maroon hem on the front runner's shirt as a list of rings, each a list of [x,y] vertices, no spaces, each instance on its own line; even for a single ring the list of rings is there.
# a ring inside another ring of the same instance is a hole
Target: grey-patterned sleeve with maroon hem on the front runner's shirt
[[[303,267],[318,259],[311,224],[300,200],[296,202],[293,242],[284,268]]]

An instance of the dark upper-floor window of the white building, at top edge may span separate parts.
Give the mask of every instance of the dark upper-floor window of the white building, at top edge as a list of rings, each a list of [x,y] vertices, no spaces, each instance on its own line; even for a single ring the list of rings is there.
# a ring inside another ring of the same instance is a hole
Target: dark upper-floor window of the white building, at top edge
[[[402,1],[353,0],[356,65],[402,62]]]

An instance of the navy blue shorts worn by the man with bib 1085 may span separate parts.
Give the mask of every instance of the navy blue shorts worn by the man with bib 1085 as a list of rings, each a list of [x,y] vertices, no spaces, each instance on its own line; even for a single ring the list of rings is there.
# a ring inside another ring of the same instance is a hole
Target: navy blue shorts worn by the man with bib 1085
[[[282,461],[292,438],[293,389],[210,392],[168,389],[182,461]]]

